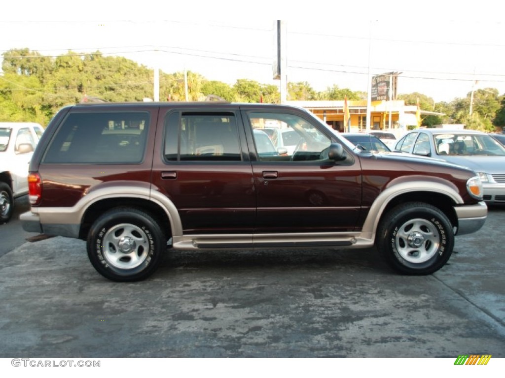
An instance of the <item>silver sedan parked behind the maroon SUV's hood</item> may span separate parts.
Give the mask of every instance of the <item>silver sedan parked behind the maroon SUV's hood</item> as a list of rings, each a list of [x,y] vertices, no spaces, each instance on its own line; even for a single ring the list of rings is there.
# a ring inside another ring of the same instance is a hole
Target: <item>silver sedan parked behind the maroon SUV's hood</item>
[[[505,148],[488,134],[472,130],[419,129],[403,136],[396,150],[473,169],[482,180],[484,201],[505,204]]]

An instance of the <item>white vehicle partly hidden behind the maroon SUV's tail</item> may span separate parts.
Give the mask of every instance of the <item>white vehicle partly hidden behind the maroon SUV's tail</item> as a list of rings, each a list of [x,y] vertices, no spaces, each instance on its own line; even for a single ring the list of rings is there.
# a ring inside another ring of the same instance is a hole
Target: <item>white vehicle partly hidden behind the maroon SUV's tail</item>
[[[44,129],[33,122],[0,122],[0,224],[11,219],[14,199],[28,193],[28,164]]]

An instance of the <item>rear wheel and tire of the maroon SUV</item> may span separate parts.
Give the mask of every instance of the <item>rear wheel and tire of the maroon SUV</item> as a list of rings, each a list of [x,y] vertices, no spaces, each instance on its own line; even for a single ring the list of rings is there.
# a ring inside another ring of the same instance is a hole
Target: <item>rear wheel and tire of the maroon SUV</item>
[[[107,211],[91,226],[88,258],[102,276],[118,282],[140,281],[158,268],[166,237],[149,214],[134,208]]]

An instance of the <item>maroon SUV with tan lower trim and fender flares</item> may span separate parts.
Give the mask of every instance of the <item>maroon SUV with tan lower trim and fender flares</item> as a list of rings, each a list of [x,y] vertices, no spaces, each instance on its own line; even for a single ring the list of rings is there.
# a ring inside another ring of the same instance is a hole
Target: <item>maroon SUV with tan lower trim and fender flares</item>
[[[296,132],[294,151],[263,151],[263,128]],[[375,244],[397,271],[430,274],[487,215],[473,171],[354,151],[285,105],[68,106],[34,152],[29,187],[23,228],[87,240],[91,264],[116,281],[152,274],[167,246]]]

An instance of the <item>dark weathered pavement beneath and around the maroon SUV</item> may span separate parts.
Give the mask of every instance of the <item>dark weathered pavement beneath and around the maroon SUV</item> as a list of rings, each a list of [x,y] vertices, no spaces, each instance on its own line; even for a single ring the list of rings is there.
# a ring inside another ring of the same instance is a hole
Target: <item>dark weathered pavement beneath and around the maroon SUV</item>
[[[0,258],[0,357],[505,357],[504,223],[421,277],[374,249],[218,251],[114,283],[81,240],[27,242]]]

